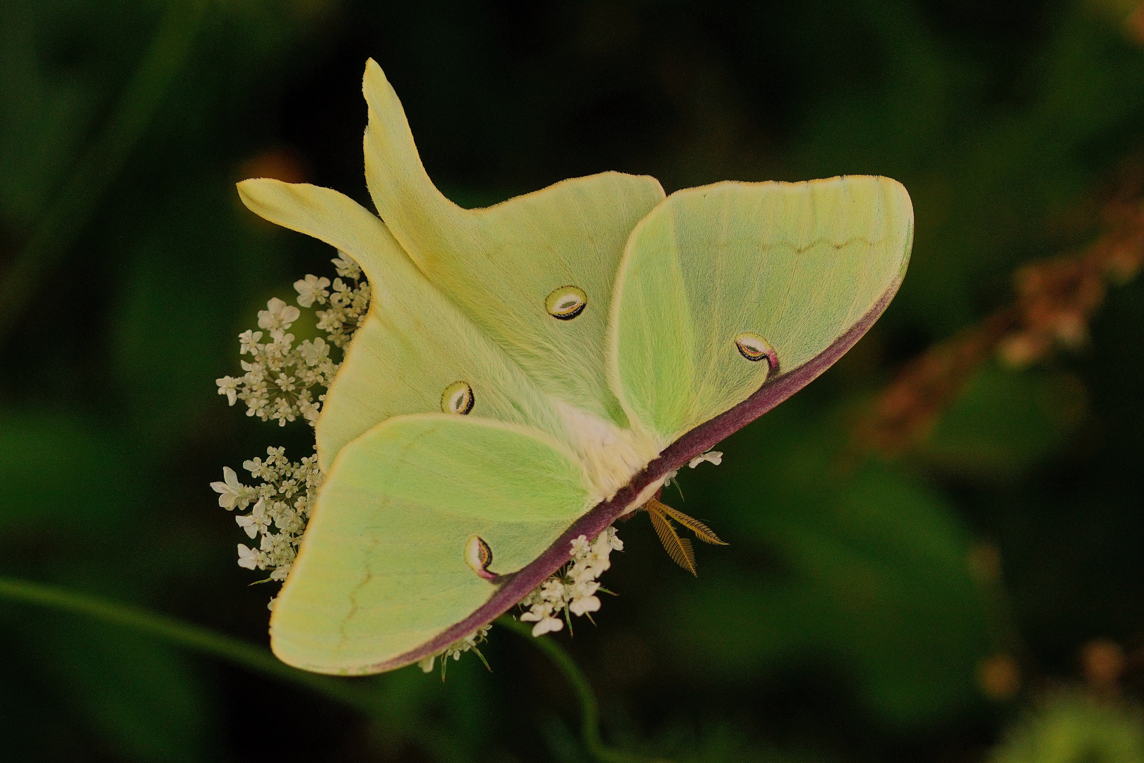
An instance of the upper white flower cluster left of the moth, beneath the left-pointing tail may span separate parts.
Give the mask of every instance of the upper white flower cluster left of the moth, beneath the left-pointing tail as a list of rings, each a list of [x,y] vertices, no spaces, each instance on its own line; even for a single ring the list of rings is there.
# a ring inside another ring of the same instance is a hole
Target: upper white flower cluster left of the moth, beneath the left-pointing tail
[[[326,339],[304,340],[295,347],[294,335],[286,332],[301,311],[278,297],[267,302],[267,309],[259,311],[259,327],[270,333],[270,341],[262,341],[261,331],[239,334],[239,355],[251,355],[251,360],[241,361],[246,373],[215,380],[219,394],[225,395],[230,405],[243,400],[246,415],[263,421],[276,419],[280,427],[297,416],[311,424],[317,420],[324,390],[337,372],[329,347],[344,347],[370,308],[370,285],[362,280],[357,263],[341,252],[333,263],[337,273],[352,283],[335,278],[332,294],[328,278],[307,276],[294,284],[297,303],[303,308],[329,303],[328,310],[316,311],[318,328]]]

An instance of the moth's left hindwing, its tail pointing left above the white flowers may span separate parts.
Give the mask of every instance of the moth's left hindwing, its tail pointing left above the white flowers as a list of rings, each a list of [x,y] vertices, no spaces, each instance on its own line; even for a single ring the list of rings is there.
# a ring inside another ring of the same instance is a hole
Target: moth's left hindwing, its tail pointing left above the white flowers
[[[316,427],[324,470],[355,437],[411,413],[450,411],[564,437],[547,396],[426,280],[375,215],[337,191],[315,185],[248,180],[238,189],[256,214],[349,254],[370,281],[368,317],[353,336]]]

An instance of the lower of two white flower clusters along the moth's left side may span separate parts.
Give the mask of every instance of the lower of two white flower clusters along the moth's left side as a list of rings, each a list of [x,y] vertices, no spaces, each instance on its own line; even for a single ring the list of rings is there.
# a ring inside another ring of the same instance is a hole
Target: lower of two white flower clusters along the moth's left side
[[[254,503],[249,514],[239,514],[235,522],[247,537],[262,538],[256,549],[238,545],[238,566],[272,570],[267,580],[285,580],[321,484],[318,456],[295,462],[286,458],[286,448],[269,447],[265,461],[253,459],[243,468],[262,483],[244,485],[230,467],[222,470],[223,482],[210,483],[219,493],[219,506],[228,511],[244,510]],[[277,532],[271,532],[271,525]]]

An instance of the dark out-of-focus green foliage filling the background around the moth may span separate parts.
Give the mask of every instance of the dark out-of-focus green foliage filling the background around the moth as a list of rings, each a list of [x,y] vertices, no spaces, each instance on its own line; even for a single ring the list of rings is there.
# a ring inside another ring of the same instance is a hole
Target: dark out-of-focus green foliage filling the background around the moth
[[[166,9],[0,3],[0,279]],[[236,373],[236,335],[269,297],[333,276],[333,252],[255,218],[233,183],[367,201],[373,56],[461,204],[605,169],[669,191],[905,183],[914,259],[884,318],[665,496],[731,545],[698,549],[696,580],[635,517],[604,580],[619,596],[559,639],[605,736],[634,750],[982,760],[1020,717],[983,693],[987,659],[1031,697],[1077,681],[1093,638],[1144,643],[1144,281],[1110,291],[1079,351],[987,364],[905,455],[855,455],[851,432],[903,361],[1006,302],[1018,267],[1094,239],[1144,156],[1141,18],[1127,0],[208,2],[126,167],[0,336],[0,574],[265,642],[270,588],[236,566],[247,539],[208,483],[268,445],[304,453],[308,431],[228,408],[213,380]],[[493,673],[398,671],[371,714],[7,603],[0,647],[3,760],[587,760],[561,676],[496,630]],[[996,761],[1137,760],[1014,757],[1032,754],[1020,740],[1097,737],[1138,757],[1135,715],[1071,701],[1040,707]]]

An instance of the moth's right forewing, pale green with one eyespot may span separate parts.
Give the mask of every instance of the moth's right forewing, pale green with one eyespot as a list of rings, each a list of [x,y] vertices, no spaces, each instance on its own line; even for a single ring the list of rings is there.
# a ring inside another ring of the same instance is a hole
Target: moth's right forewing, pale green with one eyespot
[[[909,197],[887,177],[673,193],[633,231],[615,287],[611,372],[628,416],[664,447],[752,396],[718,434],[764,413],[881,315],[912,240]]]

